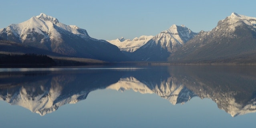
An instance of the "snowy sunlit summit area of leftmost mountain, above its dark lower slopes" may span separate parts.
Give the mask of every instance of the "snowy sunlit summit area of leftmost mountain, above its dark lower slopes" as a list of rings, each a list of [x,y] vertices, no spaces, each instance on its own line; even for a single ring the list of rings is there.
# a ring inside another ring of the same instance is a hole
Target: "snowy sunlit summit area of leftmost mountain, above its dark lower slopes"
[[[47,16],[43,13],[20,24],[11,24],[0,31],[1,33],[6,32],[7,39],[14,41],[17,40],[19,43],[46,43],[53,39],[56,43],[61,43],[61,32],[58,32],[58,30],[67,31],[75,35],[81,35],[83,38],[89,38],[86,30],[78,28],[77,26],[62,24],[56,18]],[[36,37],[34,34],[38,34],[40,36]],[[39,42],[36,42],[36,40]]]

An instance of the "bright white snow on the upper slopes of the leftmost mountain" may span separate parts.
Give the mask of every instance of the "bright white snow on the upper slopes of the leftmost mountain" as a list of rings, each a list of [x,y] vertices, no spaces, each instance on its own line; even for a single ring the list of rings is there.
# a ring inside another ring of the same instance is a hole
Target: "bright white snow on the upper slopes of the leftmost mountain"
[[[68,26],[68,25],[62,24],[58,22],[56,18],[47,16],[46,14],[43,14],[43,13],[41,13],[39,16],[34,16],[29,20],[22,22],[20,24],[11,24],[6,28],[6,31],[8,35],[13,33],[16,37],[20,37],[21,42],[23,42],[28,37],[30,37],[30,34],[32,32],[36,32],[41,35],[44,35],[44,39],[59,38],[60,33],[57,30],[58,28],[56,28],[56,26],[54,25],[68,32],[71,32],[73,34],[80,35],[81,37],[84,37],[84,38],[89,37],[86,30],[78,28],[77,26]]]

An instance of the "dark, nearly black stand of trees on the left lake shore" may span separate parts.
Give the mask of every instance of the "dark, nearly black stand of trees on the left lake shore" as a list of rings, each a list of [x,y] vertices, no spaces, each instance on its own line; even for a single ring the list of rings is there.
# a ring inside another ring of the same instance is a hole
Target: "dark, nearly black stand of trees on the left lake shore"
[[[54,60],[47,55],[9,54],[0,55],[0,64],[54,65]]]

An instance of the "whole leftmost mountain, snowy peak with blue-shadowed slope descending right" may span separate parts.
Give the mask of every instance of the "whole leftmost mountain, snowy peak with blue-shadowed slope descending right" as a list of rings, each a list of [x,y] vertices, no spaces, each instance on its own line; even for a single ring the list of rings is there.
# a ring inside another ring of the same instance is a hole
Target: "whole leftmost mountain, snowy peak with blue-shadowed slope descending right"
[[[91,38],[86,30],[62,24],[43,13],[1,29],[0,39],[71,57],[104,61],[123,61],[126,58],[115,45]]]

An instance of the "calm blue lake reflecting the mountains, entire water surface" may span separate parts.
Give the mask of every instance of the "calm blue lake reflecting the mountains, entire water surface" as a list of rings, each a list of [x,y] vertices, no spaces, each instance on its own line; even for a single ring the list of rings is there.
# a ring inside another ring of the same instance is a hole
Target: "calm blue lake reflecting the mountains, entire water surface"
[[[243,128],[256,66],[0,69],[0,128]]]

